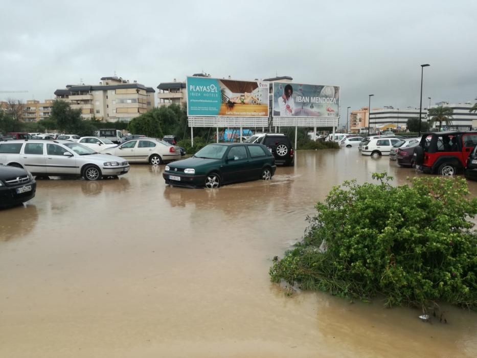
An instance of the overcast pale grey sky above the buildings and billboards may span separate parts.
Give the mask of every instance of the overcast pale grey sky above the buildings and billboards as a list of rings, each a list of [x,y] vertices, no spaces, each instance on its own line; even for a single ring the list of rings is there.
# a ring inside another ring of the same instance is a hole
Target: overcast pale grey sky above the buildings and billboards
[[[156,87],[201,72],[340,85],[342,112],[477,97],[477,1],[7,1],[0,94],[54,98],[102,76]],[[424,105],[423,105],[424,106]],[[342,119],[343,121],[343,119]]]

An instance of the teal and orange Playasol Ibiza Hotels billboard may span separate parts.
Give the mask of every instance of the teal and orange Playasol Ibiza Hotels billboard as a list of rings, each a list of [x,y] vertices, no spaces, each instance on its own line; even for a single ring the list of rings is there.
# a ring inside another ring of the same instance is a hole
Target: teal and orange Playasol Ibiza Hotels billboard
[[[187,115],[268,117],[268,82],[187,77]]]

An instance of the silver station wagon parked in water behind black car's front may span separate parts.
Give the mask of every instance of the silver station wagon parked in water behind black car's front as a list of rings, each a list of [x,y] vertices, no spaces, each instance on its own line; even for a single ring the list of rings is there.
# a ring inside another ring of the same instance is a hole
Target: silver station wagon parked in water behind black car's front
[[[82,176],[86,180],[129,171],[129,164],[123,158],[98,154],[70,141],[0,142],[0,164],[24,168],[37,176]]]

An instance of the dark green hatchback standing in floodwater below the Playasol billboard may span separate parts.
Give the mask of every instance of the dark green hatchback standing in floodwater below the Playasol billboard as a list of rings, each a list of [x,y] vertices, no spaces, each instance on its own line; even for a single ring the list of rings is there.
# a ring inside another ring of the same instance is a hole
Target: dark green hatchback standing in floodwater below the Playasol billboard
[[[223,184],[270,180],[275,158],[262,144],[209,144],[191,158],[166,165],[166,184],[184,187],[218,188]]]

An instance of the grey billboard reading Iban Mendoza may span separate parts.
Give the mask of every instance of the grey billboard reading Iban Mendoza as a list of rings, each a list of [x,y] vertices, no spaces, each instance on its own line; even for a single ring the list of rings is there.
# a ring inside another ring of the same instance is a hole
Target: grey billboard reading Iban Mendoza
[[[274,117],[338,118],[339,87],[274,82]]]

